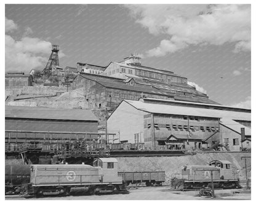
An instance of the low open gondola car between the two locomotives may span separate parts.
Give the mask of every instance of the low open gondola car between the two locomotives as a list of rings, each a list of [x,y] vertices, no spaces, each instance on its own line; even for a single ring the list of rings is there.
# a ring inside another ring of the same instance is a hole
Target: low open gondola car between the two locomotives
[[[142,182],[145,182],[146,186],[162,186],[162,183],[166,181],[165,172],[118,172],[118,175],[122,176],[127,186],[130,183]]]

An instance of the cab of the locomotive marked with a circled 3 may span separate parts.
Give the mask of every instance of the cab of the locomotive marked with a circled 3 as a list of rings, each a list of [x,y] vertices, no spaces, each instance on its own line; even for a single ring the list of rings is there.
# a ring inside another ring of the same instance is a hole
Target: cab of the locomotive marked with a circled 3
[[[118,161],[115,158],[97,158],[93,166],[98,167],[99,175],[103,175],[103,183],[122,183],[122,177],[118,176]]]

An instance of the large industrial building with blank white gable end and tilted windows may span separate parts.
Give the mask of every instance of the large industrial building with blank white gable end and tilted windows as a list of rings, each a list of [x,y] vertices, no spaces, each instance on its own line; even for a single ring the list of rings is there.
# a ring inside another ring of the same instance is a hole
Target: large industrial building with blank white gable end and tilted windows
[[[223,105],[141,98],[122,100],[107,127],[119,131],[121,142],[142,142],[148,149],[240,151],[250,148],[250,115]]]

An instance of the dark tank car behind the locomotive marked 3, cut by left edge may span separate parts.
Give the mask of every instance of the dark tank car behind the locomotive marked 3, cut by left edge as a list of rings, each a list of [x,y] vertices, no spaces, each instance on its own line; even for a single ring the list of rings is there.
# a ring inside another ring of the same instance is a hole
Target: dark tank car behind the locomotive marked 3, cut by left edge
[[[18,194],[22,184],[30,183],[30,165],[6,165],[5,175],[6,194]]]

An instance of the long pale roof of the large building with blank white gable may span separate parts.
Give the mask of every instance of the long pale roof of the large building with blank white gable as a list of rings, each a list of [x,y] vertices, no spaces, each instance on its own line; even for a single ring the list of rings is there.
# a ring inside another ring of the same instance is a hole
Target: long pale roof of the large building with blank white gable
[[[186,107],[174,104],[150,104],[138,100],[123,100],[127,104],[132,105],[137,110],[146,111],[148,113],[161,113],[170,115],[190,115],[210,118],[230,118],[250,121],[251,114],[241,111],[215,110],[199,107]]]

